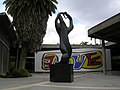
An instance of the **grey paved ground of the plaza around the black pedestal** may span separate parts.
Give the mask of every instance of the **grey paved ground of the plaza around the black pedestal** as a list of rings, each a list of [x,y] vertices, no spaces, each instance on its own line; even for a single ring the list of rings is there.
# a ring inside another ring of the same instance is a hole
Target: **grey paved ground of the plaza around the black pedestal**
[[[35,73],[28,78],[0,78],[0,90],[120,90],[120,72],[74,73],[74,82],[49,81],[48,73]]]

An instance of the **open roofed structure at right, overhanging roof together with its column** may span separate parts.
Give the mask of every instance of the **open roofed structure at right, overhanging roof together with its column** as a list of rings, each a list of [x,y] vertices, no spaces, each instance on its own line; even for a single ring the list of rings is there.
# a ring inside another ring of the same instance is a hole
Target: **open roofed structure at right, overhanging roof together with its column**
[[[120,56],[120,49],[119,49],[120,48],[120,13],[90,28],[88,30],[88,36],[91,38],[102,40],[102,49],[103,49],[103,55],[104,55],[103,72],[104,74],[106,74],[105,48],[112,49],[112,51],[114,52],[114,56],[116,56],[117,60],[119,60],[117,64],[120,63],[120,58],[119,58]],[[105,41],[108,41],[108,43],[114,42],[114,44],[106,47]],[[119,65],[116,65],[118,66],[117,68],[119,68]]]

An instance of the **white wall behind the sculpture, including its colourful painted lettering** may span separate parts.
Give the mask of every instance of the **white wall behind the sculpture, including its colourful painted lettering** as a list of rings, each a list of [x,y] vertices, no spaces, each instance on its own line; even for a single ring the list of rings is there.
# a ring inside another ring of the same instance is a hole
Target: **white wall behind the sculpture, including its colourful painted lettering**
[[[98,71],[103,68],[103,55],[101,49],[82,48],[73,49],[69,64],[73,64],[74,71]],[[106,49],[107,70],[111,70],[110,50]],[[61,52],[40,51],[35,54],[35,72],[49,72],[50,65],[58,63]]]

